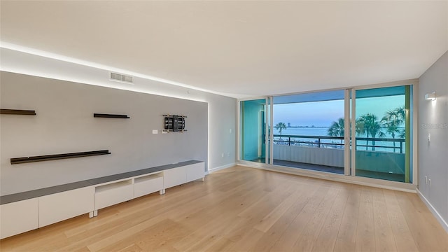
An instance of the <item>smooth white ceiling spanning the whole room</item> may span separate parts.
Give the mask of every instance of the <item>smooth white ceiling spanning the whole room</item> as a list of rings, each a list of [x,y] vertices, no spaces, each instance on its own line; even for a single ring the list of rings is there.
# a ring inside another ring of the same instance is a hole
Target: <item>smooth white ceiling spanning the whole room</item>
[[[448,1],[1,1],[1,41],[255,97],[419,78]]]

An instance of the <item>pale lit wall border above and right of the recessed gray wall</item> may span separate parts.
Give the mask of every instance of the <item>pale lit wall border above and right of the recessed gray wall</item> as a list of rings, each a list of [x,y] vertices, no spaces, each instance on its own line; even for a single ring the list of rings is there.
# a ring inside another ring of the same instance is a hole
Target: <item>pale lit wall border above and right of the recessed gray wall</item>
[[[206,165],[209,171],[235,165],[237,100],[234,98],[195,90],[191,87],[170,85],[153,80],[151,76],[148,78],[139,73],[114,69],[113,66],[74,63],[70,59],[66,61],[53,57],[54,55],[45,57],[6,48],[0,48],[0,55],[3,71],[207,102],[209,104],[209,159]],[[134,83],[130,85],[111,81],[108,78],[109,71],[128,73],[134,76]]]

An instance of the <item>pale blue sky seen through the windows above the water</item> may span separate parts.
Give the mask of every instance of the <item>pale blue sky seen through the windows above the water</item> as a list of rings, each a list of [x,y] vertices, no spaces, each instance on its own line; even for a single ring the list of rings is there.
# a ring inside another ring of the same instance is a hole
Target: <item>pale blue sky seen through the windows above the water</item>
[[[356,116],[374,113],[381,120],[386,111],[402,105],[405,105],[404,95],[356,99]],[[333,121],[342,117],[344,117],[344,100],[274,104],[274,125],[283,122],[290,123],[291,126],[328,127]]]

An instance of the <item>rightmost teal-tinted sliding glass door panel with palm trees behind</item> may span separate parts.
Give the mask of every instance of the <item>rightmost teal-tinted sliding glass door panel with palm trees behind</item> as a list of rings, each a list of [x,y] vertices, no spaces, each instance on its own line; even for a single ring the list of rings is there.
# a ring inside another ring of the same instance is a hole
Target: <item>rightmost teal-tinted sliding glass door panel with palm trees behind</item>
[[[356,90],[356,176],[412,183],[411,86]]]

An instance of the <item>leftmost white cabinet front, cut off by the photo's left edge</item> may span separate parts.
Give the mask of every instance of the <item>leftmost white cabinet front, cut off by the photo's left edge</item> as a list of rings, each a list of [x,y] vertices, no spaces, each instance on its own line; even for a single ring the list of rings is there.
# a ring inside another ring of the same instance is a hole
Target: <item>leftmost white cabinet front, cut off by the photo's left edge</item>
[[[0,239],[38,228],[37,198],[0,205]]]

